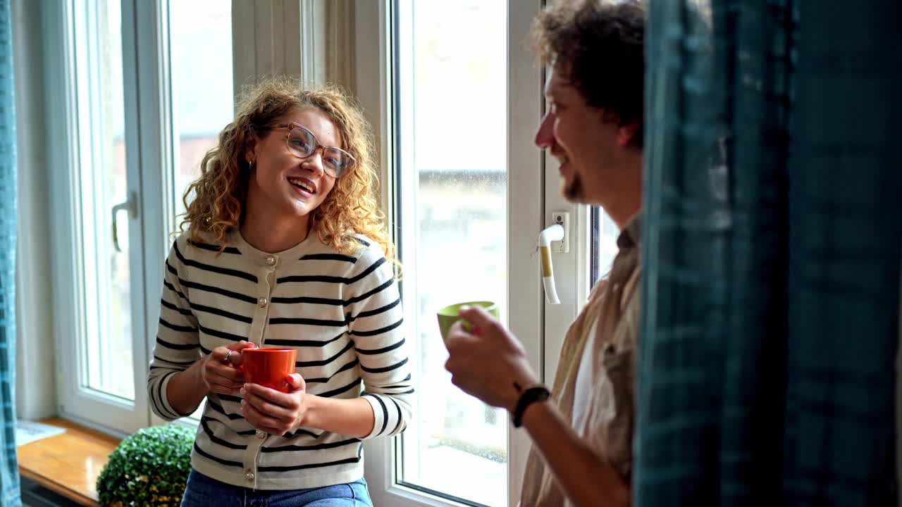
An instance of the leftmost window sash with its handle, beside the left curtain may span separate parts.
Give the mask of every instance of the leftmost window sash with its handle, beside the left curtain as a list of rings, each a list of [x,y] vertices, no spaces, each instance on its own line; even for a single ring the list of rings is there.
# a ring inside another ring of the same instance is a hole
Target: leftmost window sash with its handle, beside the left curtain
[[[48,14],[58,28],[49,58],[60,61],[51,82],[63,88],[48,97],[49,110],[60,112],[48,132],[60,143],[48,146],[56,151],[52,212],[63,240],[53,249],[58,350],[69,358],[60,362],[60,404],[72,417],[103,413],[111,428],[133,431],[147,423],[144,371],[136,367],[146,359],[143,238],[125,78],[131,18],[122,6],[129,4],[66,2]]]

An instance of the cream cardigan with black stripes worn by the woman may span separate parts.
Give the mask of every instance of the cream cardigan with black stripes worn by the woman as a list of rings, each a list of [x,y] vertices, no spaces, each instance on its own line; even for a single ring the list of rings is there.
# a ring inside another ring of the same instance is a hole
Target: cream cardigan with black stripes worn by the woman
[[[219,253],[180,235],[166,262],[147,379],[153,412],[169,420],[185,415],[167,400],[172,375],[216,346],[247,340],[296,348],[308,393],[369,401],[375,425],[365,438],[406,429],[413,388],[397,284],[379,245],[356,239],[361,249],[354,255],[336,253],[312,234],[285,252],[264,253],[235,231]],[[316,428],[267,435],[241,415],[239,397],[215,393],[207,395],[191,463],[217,481],[263,490],[364,475],[361,438]]]

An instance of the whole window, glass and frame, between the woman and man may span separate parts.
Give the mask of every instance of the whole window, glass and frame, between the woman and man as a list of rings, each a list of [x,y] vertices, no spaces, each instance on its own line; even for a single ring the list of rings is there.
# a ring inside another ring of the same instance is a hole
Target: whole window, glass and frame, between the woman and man
[[[450,383],[435,313],[461,300],[497,301],[550,382],[553,351],[587,293],[588,210],[560,198],[557,167],[532,143],[543,80],[527,40],[540,7],[538,0],[356,4],[358,94],[382,133],[383,198],[407,273],[406,334],[419,362],[416,423],[393,443],[367,447],[378,504],[518,502],[529,438],[511,431],[503,410]],[[373,19],[381,20],[376,28]],[[554,307],[544,303],[536,256],[552,211],[575,217],[572,253],[554,255],[566,300]]]

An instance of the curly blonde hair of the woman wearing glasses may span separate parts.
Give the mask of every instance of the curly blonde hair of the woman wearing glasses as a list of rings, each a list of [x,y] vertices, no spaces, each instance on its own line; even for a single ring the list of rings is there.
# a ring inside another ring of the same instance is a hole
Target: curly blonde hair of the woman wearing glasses
[[[200,177],[185,190],[187,211],[182,215],[180,231],[188,226],[194,242],[203,242],[203,237],[212,235],[216,244],[225,248],[226,235],[244,217],[251,172],[246,152],[257,140],[269,135],[285,115],[308,107],[323,112],[336,124],[343,148],[355,160],[350,170],[336,180],[322,204],[310,212],[310,231],[339,253],[357,252],[360,244],[352,235],[366,235],[382,246],[385,257],[400,274],[385,216],[375,197],[379,179],[373,133],[354,99],[332,85],[307,89],[293,79],[268,78],[247,88],[235,120],[219,134],[216,147],[200,162]],[[189,202],[192,192],[194,198]]]

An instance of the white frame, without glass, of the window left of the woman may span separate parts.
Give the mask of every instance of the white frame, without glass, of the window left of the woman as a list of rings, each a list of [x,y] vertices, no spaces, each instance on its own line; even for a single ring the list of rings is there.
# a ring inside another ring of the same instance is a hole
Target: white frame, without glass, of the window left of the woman
[[[78,278],[81,249],[76,199],[79,170],[91,165],[78,144],[79,133],[90,135],[90,124],[84,115],[87,107],[79,102],[78,87],[83,83],[78,82],[73,51],[80,51],[78,47],[83,43],[78,41],[83,35],[74,29],[80,15],[76,9],[84,11],[86,5],[82,0],[67,0],[46,4],[42,11],[42,29],[47,35],[47,136],[65,140],[51,144],[48,164],[50,180],[54,181],[51,230],[55,244],[51,248],[51,266],[57,405],[60,416],[117,436],[163,422],[151,415],[146,379],[160,311],[162,266],[174,223],[168,200],[175,150],[169,132],[169,27],[164,15],[168,5],[168,0],[121,0],[127,192],[137,198],[137,217],[129,217],[127,233],[131,256],[133,403],[83,389],[78,382],[82,367],[78,357],[83,350],[80,344],[85,327],[80,301],[84,297],[83,284]],[[120,224],[123,222],[120,219]],[[73,331],[77,339],[73,339]]]

